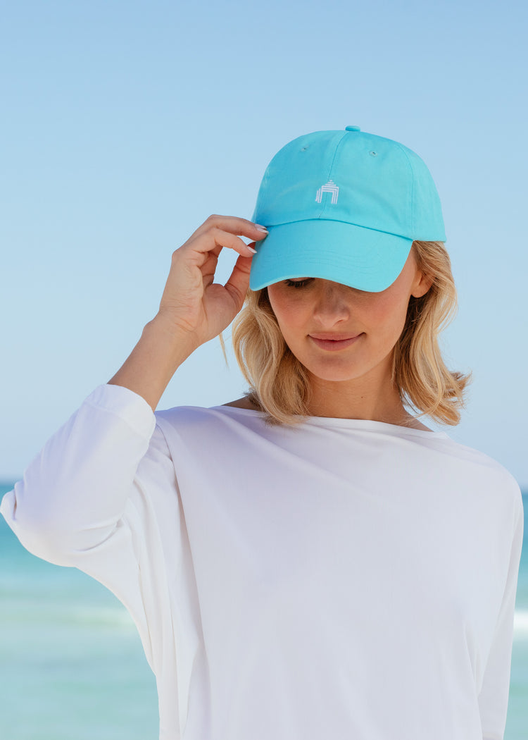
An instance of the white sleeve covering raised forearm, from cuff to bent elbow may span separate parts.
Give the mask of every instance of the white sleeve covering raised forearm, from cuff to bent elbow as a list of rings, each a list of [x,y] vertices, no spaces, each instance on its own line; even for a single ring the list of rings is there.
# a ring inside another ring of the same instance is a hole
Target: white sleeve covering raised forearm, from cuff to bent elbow
[[[95,388],[1,502],[22,545],[57,565],[76,565],[75,556],[114,535],[154,430],[143,398]]]

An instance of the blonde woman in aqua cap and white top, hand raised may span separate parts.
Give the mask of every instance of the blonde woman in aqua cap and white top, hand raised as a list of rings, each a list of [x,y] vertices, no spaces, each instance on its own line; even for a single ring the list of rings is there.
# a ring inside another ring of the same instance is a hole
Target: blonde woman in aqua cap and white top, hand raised
[[[4,497],[27,549],[132,613],[160,738],[503,737],[521,493],[418,418],[456,424],[467,383],[438,346],[444,240],[410,149],[295,139],[254,221],[211,216],[176,250],[123,367]],[[249,394],[155,415],[234,317]]]

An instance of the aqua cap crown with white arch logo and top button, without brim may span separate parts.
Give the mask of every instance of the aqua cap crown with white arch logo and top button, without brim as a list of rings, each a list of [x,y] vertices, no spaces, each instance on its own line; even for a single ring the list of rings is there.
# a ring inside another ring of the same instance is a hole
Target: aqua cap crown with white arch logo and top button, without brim
[[[305,134],[282,147],[265,171],[253,221],[343,221],[444,241],[440,198],[424,161],[397,141],[350,128]]]

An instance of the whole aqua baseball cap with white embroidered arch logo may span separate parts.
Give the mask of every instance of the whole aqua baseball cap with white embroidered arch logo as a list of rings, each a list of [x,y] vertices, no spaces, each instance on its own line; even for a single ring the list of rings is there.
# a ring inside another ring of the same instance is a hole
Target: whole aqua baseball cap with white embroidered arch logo
[[[282,147],[264,173],[252,221],[269,233],[255,246],[251,290],[322,277],[379,292],[402,272],[413,240],[445,241],[424,161],[357,126]]]

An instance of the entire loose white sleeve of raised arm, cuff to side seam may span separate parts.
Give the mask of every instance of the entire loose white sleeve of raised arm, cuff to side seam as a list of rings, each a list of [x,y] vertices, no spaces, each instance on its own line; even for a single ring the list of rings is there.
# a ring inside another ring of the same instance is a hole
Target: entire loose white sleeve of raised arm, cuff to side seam
[[[172,457],[143,398],[95,388],[4,496],[1,514],[31,553],[109,588],[132,615],[152,669],[163,665],[172,624],[166,564],[180,572],[188,554]]]

